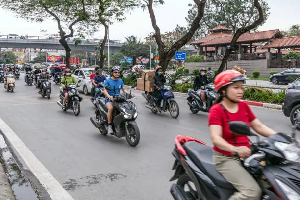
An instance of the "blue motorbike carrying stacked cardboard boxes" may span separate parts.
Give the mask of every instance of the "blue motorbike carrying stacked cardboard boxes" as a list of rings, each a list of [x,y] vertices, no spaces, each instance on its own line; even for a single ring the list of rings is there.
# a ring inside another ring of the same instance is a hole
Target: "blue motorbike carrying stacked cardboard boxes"
[[[143,93],[142,95],[144,96],[146,100],[145,107],[150,109],[152,113],[157,113],[159,111],[159,107],[162,107],[161,111],[159,112],[166,112],[169,110],[170,115],[173,118],[177,118],[179,116],[179,106],[174,99],[174,94],[171,91],[171,86],[169,85],[164,85],[162,89],[159,90],[161,93],[163,100],[161,103],[163,103],[163,106],[157,105],[157,97],[154,96],[154,93],[146,92]]]

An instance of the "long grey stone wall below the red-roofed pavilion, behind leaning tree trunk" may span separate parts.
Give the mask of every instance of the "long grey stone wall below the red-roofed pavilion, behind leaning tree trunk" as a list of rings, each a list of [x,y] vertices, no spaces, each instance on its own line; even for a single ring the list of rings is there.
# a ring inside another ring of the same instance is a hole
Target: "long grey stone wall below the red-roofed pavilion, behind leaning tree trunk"
[[[221,62],[197,62],[197,63],[185,63],[185,68],[189,69],[190,73],[193,69],[204,67],[207,69],[211,67],[212,70],[218,69]],[[257,70],[260,72],[260,77],[269,77],[270,71],[281,72],[287,68],[267,68],[270,66],[270,60],[238,60],[238,61],[228,61],[227,69],[232,69],[235,65],[244,68],[247,71],[248,76],[252,76],[253,71]],[[225,65],[226,70],[226,65]]]

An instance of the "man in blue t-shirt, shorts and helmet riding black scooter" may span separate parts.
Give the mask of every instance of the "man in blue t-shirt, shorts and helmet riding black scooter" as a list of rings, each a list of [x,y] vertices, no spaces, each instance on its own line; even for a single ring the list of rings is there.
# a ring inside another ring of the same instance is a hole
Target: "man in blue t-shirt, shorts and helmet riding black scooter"
[[[128,93],[125,86],[124,86],[124,83],[122,81],[120,77],[121,75],[121,68],[119,66],[115,66],[113,67],[112,69],[112,77],[107,79],[104,83],[104,95],[106,96],[106,108],[108,110],[107,112],[107,121],[108,121],[108,127],[107,127],[107,132],[109,134],[113,134],[114,131],[112,129],[112,114],[113,114],[113,104],[112,104],[112,101],[113,101],[113,96],[115,94],[120,94],[120,90],[122,89],[123,92],[125,93]],[[111,88],[110,91],[107,91],[105,89],[106,86],[109,86]],[[132,95],[132,97],[134,97]]]

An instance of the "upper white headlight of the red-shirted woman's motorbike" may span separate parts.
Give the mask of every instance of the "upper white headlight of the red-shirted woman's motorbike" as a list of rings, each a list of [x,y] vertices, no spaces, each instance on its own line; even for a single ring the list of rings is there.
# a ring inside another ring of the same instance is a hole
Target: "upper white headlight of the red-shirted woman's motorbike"
[[[287,160],[297,161],[299,159],[300,149],[295,143],[274,142],[274,145],[281,150]]]

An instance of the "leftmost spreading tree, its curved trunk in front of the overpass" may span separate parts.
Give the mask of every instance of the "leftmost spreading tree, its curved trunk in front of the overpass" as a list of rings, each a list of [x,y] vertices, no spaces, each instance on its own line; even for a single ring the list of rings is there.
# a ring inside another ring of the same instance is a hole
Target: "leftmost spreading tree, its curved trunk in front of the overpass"
[[[95,0],[0,0],[3,8],[11,10],[19,17],[32,22],[43,22],[53,19],[57,22],[59,43],[66,51],[66,66],[69,67],[70,47],[67,38],[74,35],[74,28],[80,37],[95,32]],[[28,15],[30,13],[30,15]],[[66,33],[66,27],[68,34]],[[81,40],[75,40],[75,45]]]

